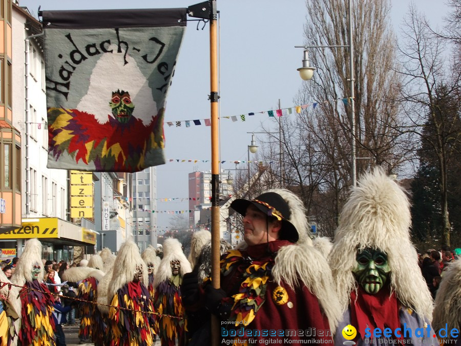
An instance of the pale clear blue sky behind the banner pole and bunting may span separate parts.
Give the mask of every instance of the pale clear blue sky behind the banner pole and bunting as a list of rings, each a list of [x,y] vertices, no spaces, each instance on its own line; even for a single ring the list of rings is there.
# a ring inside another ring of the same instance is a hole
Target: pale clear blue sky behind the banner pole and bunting
[[[86,10],[122,8],[188,7],[200,3],[185,0],[19,0],[36,16],[41,10]],[[392,0],[391,21],[395,30],[407,11],[409,0]],[[447,13],[443,0],[417,0],[418,9],[432,23],[442,23]],[[305,21],[304,0],[218,0],[220,11],[220,115],[233,116],[295,106],[293,98],[301,88],[297,68],[301,67]],[[204,119],[210,116],[209,94],[209,26],[188,22],[176,65],[173,84],[166,101],[166,121]],[[316,101],[316,100],[312,100]],[[192,123],[192,121],[191,121]],[[251,135],[275,121],[267,113],[221,120],[220,160],[247,160],[247,145]],[[203,124],[203,121],[202,121]],[[165,157],[171,159],[211,159],[209,127],[169,127],[165,130]],[[264,139],[264,135],[257,137]],[[253,155],[253,154],[251,154]],[[253,156],[254,157],[254,156]],[[250,157],[250,159],[252,159]],[[245,166],[246,167],[246,166]],[[222,169],[234,169],[231,162]],[[210,170],[211,164],[176,162],[158,166],[157,193],[159,198],[188,197],[187,174],[194,170]],[[187,202],[158,203],[159,210],[185,210]],[[159,215],[161,216],[161,215]],[[169,226],[166,215],[159,218],[159,227]]]

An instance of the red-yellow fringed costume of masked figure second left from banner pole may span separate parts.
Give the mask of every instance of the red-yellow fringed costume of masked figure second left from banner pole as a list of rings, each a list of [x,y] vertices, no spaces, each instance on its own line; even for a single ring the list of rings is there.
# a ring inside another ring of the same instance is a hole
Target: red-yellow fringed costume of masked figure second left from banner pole
[[[124,308],[124,309],[117,309]],[[154,308],[143,283],[129,282],[112,298],[108,328],[110,346],[151,346],[154,344]]]

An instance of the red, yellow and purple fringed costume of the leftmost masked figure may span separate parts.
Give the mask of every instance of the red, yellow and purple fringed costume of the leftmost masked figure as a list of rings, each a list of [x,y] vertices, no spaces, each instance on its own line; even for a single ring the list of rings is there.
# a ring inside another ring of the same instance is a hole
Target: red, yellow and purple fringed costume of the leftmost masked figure
[[[44,283],[27,281],[19,295],[22,303],[20,345],[48,346],[54,344],[54,297]],[[33,290],[30,290],[33,289]]]

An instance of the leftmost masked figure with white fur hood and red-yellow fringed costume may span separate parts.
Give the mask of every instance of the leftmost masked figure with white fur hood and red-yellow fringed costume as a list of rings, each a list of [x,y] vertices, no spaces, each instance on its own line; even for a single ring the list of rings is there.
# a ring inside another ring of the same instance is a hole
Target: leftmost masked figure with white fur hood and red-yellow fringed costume
[[[18,342],[23,346],[48,346],[54,343],[54,297],[43,282],[43,278],[41,243],[38,239],[30,239],[12,277],[14,284],[23,287],[19,292],[22,303],[22,323]]]

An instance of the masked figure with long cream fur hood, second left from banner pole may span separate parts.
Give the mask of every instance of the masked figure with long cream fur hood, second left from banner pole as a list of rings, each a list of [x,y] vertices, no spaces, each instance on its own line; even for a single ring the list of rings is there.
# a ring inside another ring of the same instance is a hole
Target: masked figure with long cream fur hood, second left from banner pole
[[[145,284],[145,264],[137,245],[122,244],[114,262],[109,283],[108,344],[111,346],[151,346],[154,344],[154,309]]]

